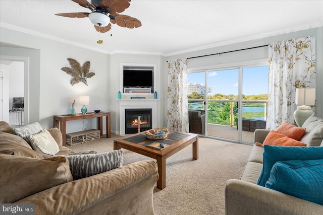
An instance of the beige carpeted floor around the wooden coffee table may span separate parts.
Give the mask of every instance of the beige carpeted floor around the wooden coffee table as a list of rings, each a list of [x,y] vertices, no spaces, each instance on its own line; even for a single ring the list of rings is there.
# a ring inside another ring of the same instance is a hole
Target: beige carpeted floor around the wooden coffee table
[[[68,146],[74,151],[113,150],[112,134],[105,138]],[[192,146],[188,146],[166,160],[166,188],[155,187],[153,204],[156,215],[225,214],[224,189],[228,179],[240,178],[251,146],[199,137],[199,159],[192,160]],[[124,150],[123,164],[152,160]]]

